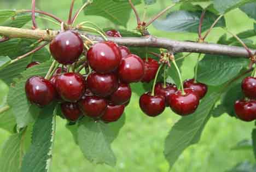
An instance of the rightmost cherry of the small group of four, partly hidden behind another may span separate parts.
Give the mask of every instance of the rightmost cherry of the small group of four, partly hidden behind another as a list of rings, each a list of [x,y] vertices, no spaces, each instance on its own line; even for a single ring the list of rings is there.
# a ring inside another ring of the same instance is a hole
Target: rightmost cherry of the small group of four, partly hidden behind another
[[[184,88],[192,88],[198,94],[200,99],[205,97],[208,90],[207,85],[195,82],[195,79],[185,80],[183,86]]]

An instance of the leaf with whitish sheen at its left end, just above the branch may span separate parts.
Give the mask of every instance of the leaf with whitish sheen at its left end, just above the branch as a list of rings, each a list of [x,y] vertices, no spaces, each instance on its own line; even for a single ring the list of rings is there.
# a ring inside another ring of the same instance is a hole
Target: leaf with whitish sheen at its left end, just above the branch
[[[169,13],[165,20],[156,20],[153,26],[161,31],[172,32],[198,32],[201,11],[185,11],[179,10]],[[202,32],[212,26],[217,19],[217,15],[206,11],[205,19],[202,24]],[[222,17],[215,27],[225,27],[225,19]]]

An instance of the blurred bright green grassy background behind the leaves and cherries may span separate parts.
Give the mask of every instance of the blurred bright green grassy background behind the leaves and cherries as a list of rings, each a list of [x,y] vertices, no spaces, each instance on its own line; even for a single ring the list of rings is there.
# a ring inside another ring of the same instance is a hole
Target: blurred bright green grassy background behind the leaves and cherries
[[[108,1],[108,0],[106,0]],[[170,0],[161,1],[151,5],[147,9],[147,18],[158,13],[161,9],[170,5]],[[66,20],[69,11],[70,0],[49,1],[37,0],[37,8],[48,11]],[[82,1],[75,2],[75,9],[82,5]],[[29,9],[30,1],[0,1],[0,9]],[[141,16],[143,15],[144,4],[137,6]],[[131,21],[127,29],[132,30],[136,26],[135,17],[131,15]],[[253,21],[250,20],[240,10],[232,10],[226,16],[228,28],[233,33],[253,28]],[[85,16],[81,14],[79,21],[96,22],[102,28],[115,27],[111,22],[102,17]],[[41,28],[55,28],[50,23],[39,22]],[[31,24],[27,25],[31,27]],[[57,28],[59,29],[59,28]],[[168,33],[157,31],[153,27],[149,28],[151,34],[158,37],[166,37],[176,40],[196,40],[197,34],[190,33]],[[222,29],[214,29],[207,41],[216,42]],[[185,59],[182,67],[183,78],[192,78],[194,75],[193,66],[196,55]],[[1,82],[0,88],[7,91]],[[1,92],[0,92],[1,94]],[[112,144],[117,155],[117,167],[111,168],[107,165],[91,164],[83,157],[79,147],[74,144],[72,135],[65,128],[66,121],[57,120],[56,140],[54,146],[53,171],[54,172],[107,172],[107,171],[168,171],[168,163],[163,155],[164,140],[168,131],[178,120],[170,109],[166,109],[164,114],[156,118],[149,118],[142,114],[138,105],[139,96],[133,94],[132,101],[126,108],[126,123],[121,129],[119,137]],[[171,171],[189,172],[216,172],[226,171],[241,161],[254,162],[252,150],[232,151],[232,146],[243,139],[250,139],[252,123],[245,123],[236,118],[222,115],[219,118],[211,118],[199,144],[189,147],[179,157]],[[0,144],[7,139],[9,133],[0,129]]]

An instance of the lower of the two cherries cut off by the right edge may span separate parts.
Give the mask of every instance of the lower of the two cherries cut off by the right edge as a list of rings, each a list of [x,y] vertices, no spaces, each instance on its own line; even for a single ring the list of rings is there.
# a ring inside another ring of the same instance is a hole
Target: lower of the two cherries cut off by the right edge
[[[242,121],[253,121],[256,119],[256,100],[237,100],[235,112]]]

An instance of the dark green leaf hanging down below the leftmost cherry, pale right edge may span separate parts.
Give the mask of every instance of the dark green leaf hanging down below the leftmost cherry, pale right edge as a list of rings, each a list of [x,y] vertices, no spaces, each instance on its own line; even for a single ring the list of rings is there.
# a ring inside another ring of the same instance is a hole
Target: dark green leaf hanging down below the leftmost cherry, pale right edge
[[[48,172],[53,157],[55,106],[45,107],[34,124],[30,149],[24,156],[21,172]]]

